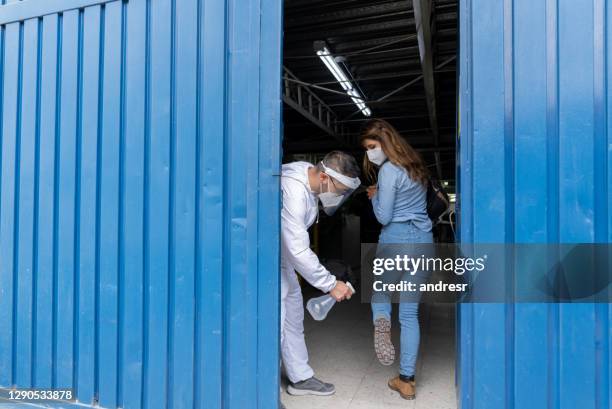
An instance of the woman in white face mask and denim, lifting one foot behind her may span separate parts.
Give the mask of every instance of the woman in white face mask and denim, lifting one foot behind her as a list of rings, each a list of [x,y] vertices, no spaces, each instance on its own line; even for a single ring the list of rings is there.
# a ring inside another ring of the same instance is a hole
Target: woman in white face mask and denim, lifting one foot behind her
[[[366,149],[364,169],[376,186],[368,197],[377,220],[382,224],[380,244],[432,243],[431,220],[427,216],[429,172],[420,155],[386,121],[374,119],[361,135]],[[376,177],[377,176],[377,177]],[[389,387],[404,399],[415,398],[414,370],[419,348],[418,297],[400,302],[400,374],[389,380]],[[391,342],[391,299],[388,294],[372,297],[374,348],[383,365],[391,365],[395,349]]]

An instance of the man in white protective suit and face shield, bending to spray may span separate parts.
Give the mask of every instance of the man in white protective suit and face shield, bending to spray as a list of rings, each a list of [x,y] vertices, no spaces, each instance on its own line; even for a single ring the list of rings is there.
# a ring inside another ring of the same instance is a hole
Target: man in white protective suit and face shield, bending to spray
[[[308,228],[318,221],[321,202],[331,215],[357,189],[359,167],[344,152],[328,153],[321,162],[283,165],[281,174],[281,356],[291,395],[331,395],[334,385],[314,377],[304,340],[304,304],[296,272],[336,301],[352,291],[337,281],[310,249]]]

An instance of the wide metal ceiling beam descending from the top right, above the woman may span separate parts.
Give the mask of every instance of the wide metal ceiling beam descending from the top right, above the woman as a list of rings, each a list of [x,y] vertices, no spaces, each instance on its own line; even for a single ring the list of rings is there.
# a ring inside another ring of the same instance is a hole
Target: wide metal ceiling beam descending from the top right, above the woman
[[[439,145],[438,114],[436,112],[436,86],[434,82],[432,36],[431,36],[431,0],[415,0],[413,3],[414,21],[419,42],[419,54],[421,67],[423,69],[423,85],[429,111],[429,122],[434,135],[434,144]],[[442,177],[442,166],[440,155],[435,153],[436,171],[438,178]]]

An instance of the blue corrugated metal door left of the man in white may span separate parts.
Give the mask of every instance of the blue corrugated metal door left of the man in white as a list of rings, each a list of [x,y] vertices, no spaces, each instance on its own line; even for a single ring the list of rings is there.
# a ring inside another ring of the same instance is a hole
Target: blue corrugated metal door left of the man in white
[[[0,386],[278,399],[281,4],[0,6]]]

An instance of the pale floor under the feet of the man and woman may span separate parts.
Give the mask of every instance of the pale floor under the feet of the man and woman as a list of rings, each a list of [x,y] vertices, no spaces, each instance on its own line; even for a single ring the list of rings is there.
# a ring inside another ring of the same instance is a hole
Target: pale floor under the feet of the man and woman
[[[305,295],[309,299],[311,295]],[[305,319],[310,364],[319,379],[336,385],[332,396],[290,396],[283,377],[281,399],[287,409],[456,409],[454,306],[421,305],[421,347],[417,362],[416,399],[402,399],[387,380],[399,363],[382,366],[374,353],[370,305],[359,297],[336,304],[326,320]],[[397,305],[393,338],[399,350]]]

